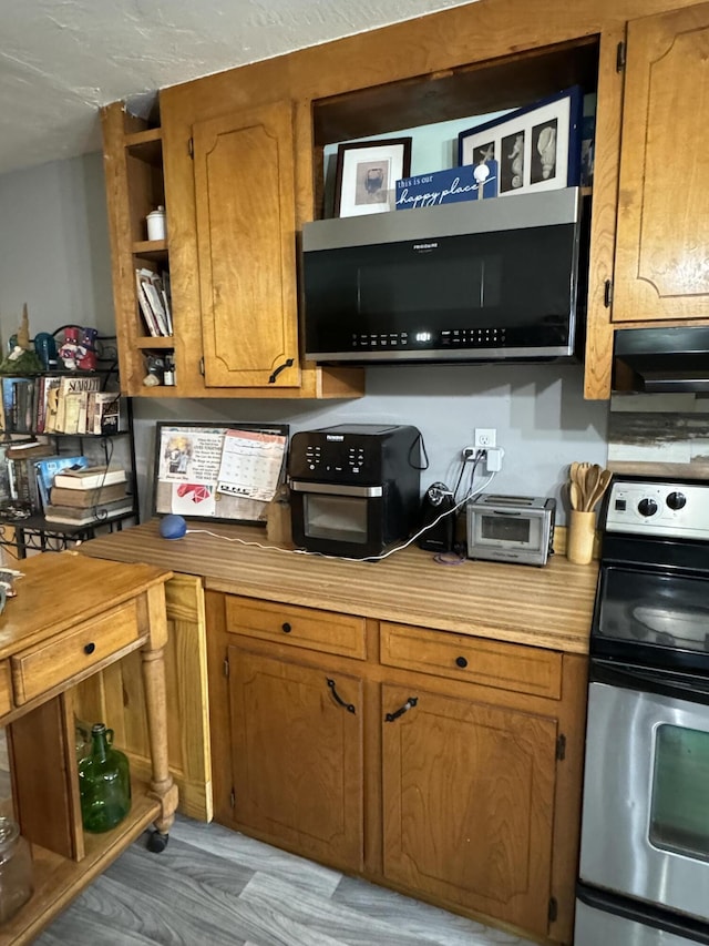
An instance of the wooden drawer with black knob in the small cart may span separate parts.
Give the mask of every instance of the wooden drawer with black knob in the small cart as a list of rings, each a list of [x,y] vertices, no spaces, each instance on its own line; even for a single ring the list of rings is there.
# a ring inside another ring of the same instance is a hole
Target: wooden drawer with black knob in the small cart
[[[14,699],[20,705],[70,678],[83,674],[141,637],[135,602],[11,658]]]

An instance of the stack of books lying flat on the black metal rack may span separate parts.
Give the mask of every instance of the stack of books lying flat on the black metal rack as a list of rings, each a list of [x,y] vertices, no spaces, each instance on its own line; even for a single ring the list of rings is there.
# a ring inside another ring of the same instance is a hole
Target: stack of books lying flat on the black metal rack
[[[54,476],[44,518],[65,526],[88,526],[133,512],[126,479],[121,467],[64,468]]]

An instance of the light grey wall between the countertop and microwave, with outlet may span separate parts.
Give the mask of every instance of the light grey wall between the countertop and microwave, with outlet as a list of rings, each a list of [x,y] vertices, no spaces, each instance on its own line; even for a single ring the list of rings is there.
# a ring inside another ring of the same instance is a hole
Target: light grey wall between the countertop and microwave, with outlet
[[[135,401],[138,468],[150,469],[156,420],[281,421],[291,434],[343,424],[413,424],[421,430],[435,480],[455,486],[460,455],[475,427],[494,427],[504,448],[491,489],[505,495],[556,496],[572,460],[605,465],[607,405],[583,399],[580,366],[482,365],[367,369],[367,396],[350,401]],[[481,481],[477,476],[475,484]],[[466,482],[466,479],[463,480]],[[148,500],[147,485],[143,487]],[[564,500],[565,501],[565,500]],[[559,521],[565,520],[564,509]]]

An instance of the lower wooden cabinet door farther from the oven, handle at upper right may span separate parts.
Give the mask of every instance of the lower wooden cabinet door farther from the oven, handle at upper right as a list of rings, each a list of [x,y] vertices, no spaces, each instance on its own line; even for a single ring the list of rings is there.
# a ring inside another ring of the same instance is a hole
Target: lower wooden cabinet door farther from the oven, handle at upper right
[[[228,661],[235,822],[361,871],[362,681],[240,647]]]

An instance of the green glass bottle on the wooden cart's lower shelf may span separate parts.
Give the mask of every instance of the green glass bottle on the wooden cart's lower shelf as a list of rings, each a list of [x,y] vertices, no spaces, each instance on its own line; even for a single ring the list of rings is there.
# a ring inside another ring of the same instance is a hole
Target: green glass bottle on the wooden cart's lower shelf
[[[84,831],[110,831],[131,811],[127,757],[113,747],[113,730],[91,728],[91,752],[79,762],[79,791]]]

